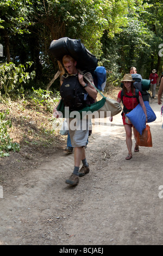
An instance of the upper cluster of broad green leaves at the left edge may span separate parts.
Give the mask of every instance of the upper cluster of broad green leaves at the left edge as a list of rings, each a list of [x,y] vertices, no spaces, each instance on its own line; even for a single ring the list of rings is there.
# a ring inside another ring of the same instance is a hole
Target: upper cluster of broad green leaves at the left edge
[[[2,63],[0,65],[0,88],[2,96],[13,96],[15,93],[22,95],[23,84],[29,83],[30,78],[34,78],[35,71],[26,72],[32,62],[25,65],[16,66],[14,63]]]

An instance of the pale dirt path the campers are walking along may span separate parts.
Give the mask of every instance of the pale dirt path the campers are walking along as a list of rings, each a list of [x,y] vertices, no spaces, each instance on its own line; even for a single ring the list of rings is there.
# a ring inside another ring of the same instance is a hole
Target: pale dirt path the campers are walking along
[[[162,245],[163,130],[156,99],[151,107],[153,147],[130,161],[118,114],[101,132],[93,126],[86,149],[91,171],[78,186],[65,184],[73,154],[62,148],[16,175],[0,199],[0,245]]]

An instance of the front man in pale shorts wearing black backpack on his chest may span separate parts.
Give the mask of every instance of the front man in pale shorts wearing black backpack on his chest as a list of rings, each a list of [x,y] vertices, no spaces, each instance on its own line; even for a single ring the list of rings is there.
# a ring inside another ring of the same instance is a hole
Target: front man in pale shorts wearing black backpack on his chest
[[[71,111],[78,111],[78,109],[82,109],[86,103],[95,102],[97,91],[96,88],[91,84],[93,83],[91,73],[86,73],[86,76],[91,82],[86,83],[83,75],[81,75],[76,68],[76,60],[69,55],[65,55],[62,58],[62,63],[67,71],[67,74],[61,76],[60,79],[60,95],[64,101],[64,105],[69,107]],[[73,95],[75,92],[77,92],[76,95]],[[54,108],[53,115],[56,118],[59,117],[57,107]],[[72,123],[76,121],[76,129],[74,129],[74,126],[71,127],[71,121]],[[85,156],[85,146],[89,136],[89,120],[69,118],[68,123],[71,143],[72,147],[74,148],[74,169],[70,178],[66,180],[66,184],[74,186],[78,184],[79,177],[84,176],[90,171]],[[79,170],[81,160],[83,166]]]

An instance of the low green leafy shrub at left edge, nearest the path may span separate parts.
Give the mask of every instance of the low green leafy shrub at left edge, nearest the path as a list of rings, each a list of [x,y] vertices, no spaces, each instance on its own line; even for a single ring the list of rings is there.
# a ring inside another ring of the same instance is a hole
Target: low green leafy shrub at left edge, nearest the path
[[[0,157],[9,156],[9,151],[20,151],[20,145],[10,138],[8,127],[11,128],[11,120],[5,120],[9,111],[0,113]]]

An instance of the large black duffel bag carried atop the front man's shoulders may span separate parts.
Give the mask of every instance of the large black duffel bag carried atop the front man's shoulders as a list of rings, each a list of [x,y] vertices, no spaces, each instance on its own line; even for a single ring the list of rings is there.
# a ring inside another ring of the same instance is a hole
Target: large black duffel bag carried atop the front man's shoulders
[[[70,39],[65,37],[53,40],[49,47],[49,51],[61,64],[62,57],[68,54],[77,60],[78,69],[93,72],[97,67],[97,58],[85,48],[80,39]]]

